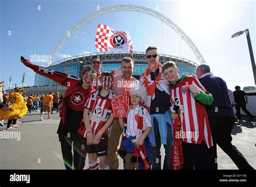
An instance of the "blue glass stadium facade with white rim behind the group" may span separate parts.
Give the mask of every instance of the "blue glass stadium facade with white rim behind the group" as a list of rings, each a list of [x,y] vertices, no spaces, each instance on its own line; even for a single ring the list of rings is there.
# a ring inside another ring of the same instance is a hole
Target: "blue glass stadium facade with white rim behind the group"
[[[100,58],[102,58],[103,60],[102,72],[104,72],[104,71],[113,71],[113,70],[119,69],[121,67],[122,59],[124,57],[131,57],[131,54],[128,52],[100,52],[100,53],[83,54],[80,56],[69,57],[69,58],[56,61],[55,63],[51,64],[46,68],[79,77],[83,67],[91,66],[91,58],[93,56],[99,56]],[[136,79],[139,79],[140,75],[146,70],[148,66],[145,60],[145,52],[134,52],[133,58],[135,61],[134,63],[135,69],[133,71],[133,77],[135,77]],[[179,72],[180,75],[182,74],[191,75],[191,74],[194,74],[196,71],[197,64],[191,60],[170,56],[167,54],[160,54],[161,64],[170,60],[176,62],[176,65],[180,69],[180,72]],[[35,75],[34,86],[39,86],[39,85],[50,86],[52,84],[56,84],[56,82],[49,78],[43,77],[42,75],[39,75],[39,74]]]

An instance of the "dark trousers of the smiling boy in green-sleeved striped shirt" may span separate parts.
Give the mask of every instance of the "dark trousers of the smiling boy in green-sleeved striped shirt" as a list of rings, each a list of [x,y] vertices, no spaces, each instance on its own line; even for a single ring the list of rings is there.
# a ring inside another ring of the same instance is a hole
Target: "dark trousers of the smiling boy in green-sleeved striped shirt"
[[[208,169],[207,145],[182,142],[184,166],[183,169]]]

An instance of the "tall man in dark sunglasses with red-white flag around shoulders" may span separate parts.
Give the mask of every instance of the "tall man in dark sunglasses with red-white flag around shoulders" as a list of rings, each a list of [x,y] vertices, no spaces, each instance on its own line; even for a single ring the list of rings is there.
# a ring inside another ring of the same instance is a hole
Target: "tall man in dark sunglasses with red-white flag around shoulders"
[[[157,47],[147,47],[145,59],[149,67],[140,76],[140,84],[147,88],[145,107],[151,116],[152,130],[149,134],[152,155],[152,169],[161,169],[161,144],[164,144],[165,159],[163,169],[172,169],[170,156],[172,150],[172,119],[168,112],[170,103],[169,82],[165,79],[159,63]]]

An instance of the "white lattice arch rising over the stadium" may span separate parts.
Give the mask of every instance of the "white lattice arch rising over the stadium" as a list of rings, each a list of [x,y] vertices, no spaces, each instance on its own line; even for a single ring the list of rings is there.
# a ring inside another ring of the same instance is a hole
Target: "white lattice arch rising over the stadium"
[[[95,12],[90,13],[88,16],[80,19],[78,23],[73,26],[67,34],[65,34],[62,39],[60,39],[53,51],[51,52],[51,60],[55,59],[56,55],[58,54],[59,50],[61,49],[62,45],[65,43],[65,41],[72,36],[73,33],[75,33],[80,27],[85,25],[86,23],[90,22],[92,19],[102,16],[106,13],[110,12],[117,12],[117,11],[135,11],[135,12],[142,12],[147,15],[153,16],[165,24],[169,25],[175,32],[179,34],[181,38],[183,38],[187,45],[190,47],[190,49],[196,54],[197,59],[201,64],[205,64],[205,59],[203,55],[200,53],[200,51],[197,49],[196,44],[193,43],[193,41],[187,36],[187,34],[180,29],[175,23],[172,22],[171,19],[168,17],[162,15],[161,13],[154,11],[149,8],[145,8],[144,6],[138,6],[138,5],[129,5],[129,4],[122,4],[122,5],[112,5],[107,6],[106,8],[97,10]],[[48,62],[45,64],[45,66],[51,65],[52,62]]]

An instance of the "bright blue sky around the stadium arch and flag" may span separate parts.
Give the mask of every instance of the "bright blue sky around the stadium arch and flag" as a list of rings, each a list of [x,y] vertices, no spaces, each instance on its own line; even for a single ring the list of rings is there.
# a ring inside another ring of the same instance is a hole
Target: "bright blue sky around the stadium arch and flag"
[[[59,39],[80,19],[96,11],[117,4],[142,5],[169,17],[196,44],[214,75],[223,78],[228,88],[235,85],[254,86],[253,73],[245,34],[231,35],[250,29],[255,51],[255,1],[0,1],[0,80],[12,76],[12,85],[34,83],[35,73],[25,67],[20,56],[30,58],[35,54],[49,55]],[[114,30],[129,31],[134,51],[145,51],[149,45],[158,47],[160,53],[183,57],[198,63],[186,42],[169,26],[143,13],[114,12],[91,20],[74,33],[60,49],[56,60],[87,52],[97,52],[95,36],[97,25],[107,24]],[[35,62],[44,66],[44,62]]]

